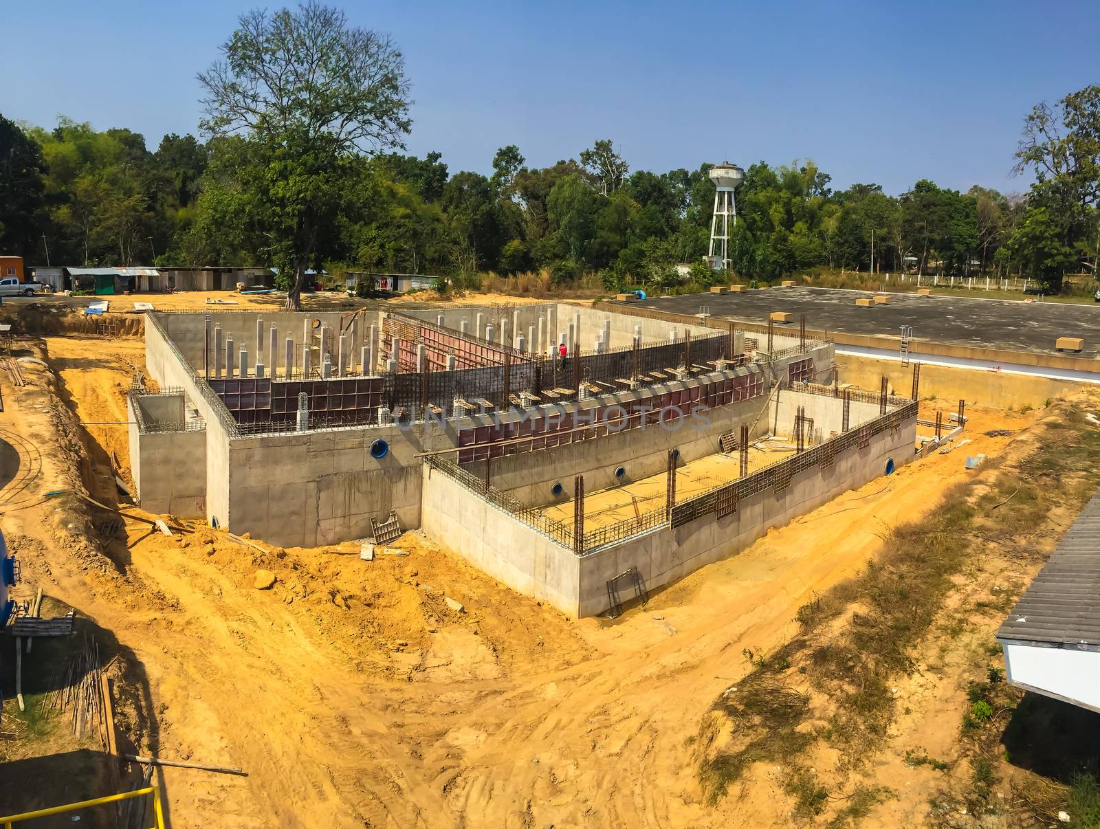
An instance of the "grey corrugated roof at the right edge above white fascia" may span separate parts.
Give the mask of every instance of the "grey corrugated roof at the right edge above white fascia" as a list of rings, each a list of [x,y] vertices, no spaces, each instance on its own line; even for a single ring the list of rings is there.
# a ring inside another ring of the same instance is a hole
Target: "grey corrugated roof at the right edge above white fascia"
[[[1081,510],[997,638],[1100,648],[1100,493]]]

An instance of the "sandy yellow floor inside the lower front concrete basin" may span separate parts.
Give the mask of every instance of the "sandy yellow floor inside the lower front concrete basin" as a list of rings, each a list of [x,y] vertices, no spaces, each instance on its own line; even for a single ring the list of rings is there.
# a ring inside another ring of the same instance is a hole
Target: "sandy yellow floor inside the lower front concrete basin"
[[[794,454],[794,446],[782,439],[757,441],[749,447],[749,473],[779,463]],[[676,501],[691,498],[740,477],[740,456],[713,454],[676,467]],[[666,473],[630,480],[620,486],[584,494],[585,532],[635,518],[637,513],[661,509],[667,497]],[[637,511],[635,508],[637,507]],[[573,499],[547,507],[542,513],[572,526]]]

